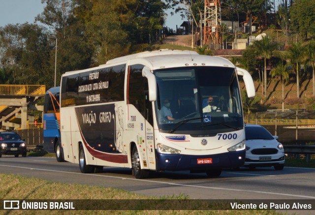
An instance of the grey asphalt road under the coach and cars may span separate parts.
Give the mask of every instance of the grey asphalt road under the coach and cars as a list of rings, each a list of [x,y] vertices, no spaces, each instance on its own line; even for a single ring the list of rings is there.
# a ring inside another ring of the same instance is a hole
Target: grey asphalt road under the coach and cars
[[[127,168],[104,167],[102,173],[82,174],[78,164],[56,158],[2,156],[0,173],[19,174],[54,182],[126,189],[148,196],[185,193],[192,199],[313,199],[315,169],[284,167],[224,170],[219,178],[205,173],[152,172],[135,179]]]

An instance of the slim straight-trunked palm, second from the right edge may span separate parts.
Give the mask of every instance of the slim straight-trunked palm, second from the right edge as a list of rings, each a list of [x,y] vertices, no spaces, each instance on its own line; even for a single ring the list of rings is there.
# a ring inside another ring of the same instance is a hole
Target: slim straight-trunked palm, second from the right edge
[[[303,60],[304,49],[301,43],[291,43],[290,47],[287,49],[287,56],[292,64],[293,70],[296,74],[296,96],[300,98],[300,80],[299,80],[299,64]]]

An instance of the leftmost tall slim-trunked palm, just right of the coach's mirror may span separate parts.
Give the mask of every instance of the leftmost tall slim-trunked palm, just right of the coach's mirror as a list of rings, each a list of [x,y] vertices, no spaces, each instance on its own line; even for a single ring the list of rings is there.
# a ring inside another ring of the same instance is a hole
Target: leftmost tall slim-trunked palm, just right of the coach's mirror
[[[278,43],[273,42],[268,36],[262,36],[261,40],[255,40],[252,43],[259,56],[264,58],[264,97],[267,96],[267,59],[270,59],[272,53],[278,49]]]

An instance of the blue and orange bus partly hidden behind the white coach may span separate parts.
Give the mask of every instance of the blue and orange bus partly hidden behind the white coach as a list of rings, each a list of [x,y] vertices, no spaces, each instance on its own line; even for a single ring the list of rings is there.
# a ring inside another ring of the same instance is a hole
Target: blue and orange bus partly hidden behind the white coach
[[[53,87],[46,91],[43,113],[43,147],[44,150],[56,153],[57,161],[63,160],[60,141],[60,87]]]

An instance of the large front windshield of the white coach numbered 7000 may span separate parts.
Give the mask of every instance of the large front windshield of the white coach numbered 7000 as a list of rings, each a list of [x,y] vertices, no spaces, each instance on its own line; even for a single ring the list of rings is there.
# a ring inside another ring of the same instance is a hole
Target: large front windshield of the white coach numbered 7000
[[[185,67],[155,70],[158,128],[174,134],[217,134],[243,129],[235,68]]]

